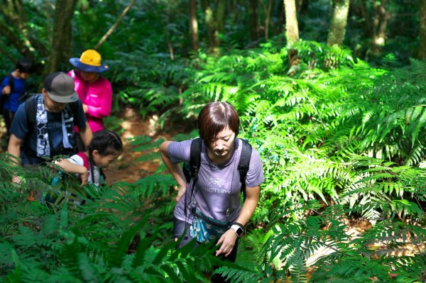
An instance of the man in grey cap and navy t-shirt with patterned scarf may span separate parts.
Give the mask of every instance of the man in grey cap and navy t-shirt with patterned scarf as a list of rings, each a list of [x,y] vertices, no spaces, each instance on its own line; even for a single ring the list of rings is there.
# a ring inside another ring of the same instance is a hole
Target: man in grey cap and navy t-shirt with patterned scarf
[[[45,79],[41,94],[18,107],[11,125],[8,152],[21,158],[24,166],[42,164],[45,157],[74,154],[75,126],[84,145],[89,145],[93,134],[74,91],[74,81],[64,72],[54,72]],[[13,181],[19,179],[13,177]]]

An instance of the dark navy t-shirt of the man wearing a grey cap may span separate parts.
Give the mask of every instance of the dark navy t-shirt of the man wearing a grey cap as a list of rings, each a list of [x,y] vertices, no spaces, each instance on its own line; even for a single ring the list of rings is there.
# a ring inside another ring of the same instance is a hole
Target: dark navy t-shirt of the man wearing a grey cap
[[[37,94],[43,95],[43,94]],[[35,99],[35,97],[34,97]],[[73,103],[77,103],[77,113],[74,116],[74,125],[80,129],[86,128],[86,115],[84,115],[82,101],[77,100]],[[25,111],[25,104],[21,104],[16,111],[15,116],[13,117],[13,122],[11,125],[10,133],[15,135],[16,138],[24,140],[23,148],[21,150],[21,158],[23,165],[25,164],[39,164],[44,161],[40,157],[30,157],[26,155],[26,150],[31,150],[33,155],[37,155],[37,124],[33,125],[33,129],[28,131],[28,119],[27,113]],[[47,111],[47,110],[46,110]],[[63,138],[62,138],[62,113],[53,113],[48,112],[48,135],[50,140],[50,149],[53,150],[58,148],[63,148]],[[30,133],[31,132],[31,133]],[[28,137],[28,133],[30,136]],[[26,141],[26,142],[25,142]],[[72,152],[74,153],[74,152]]]

